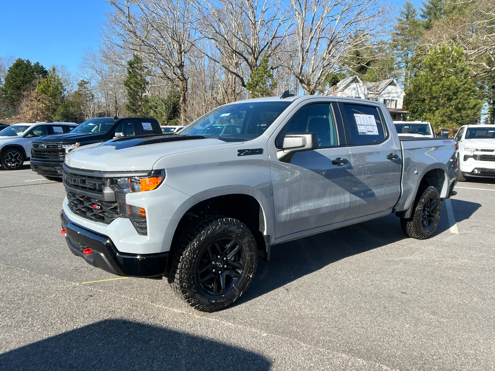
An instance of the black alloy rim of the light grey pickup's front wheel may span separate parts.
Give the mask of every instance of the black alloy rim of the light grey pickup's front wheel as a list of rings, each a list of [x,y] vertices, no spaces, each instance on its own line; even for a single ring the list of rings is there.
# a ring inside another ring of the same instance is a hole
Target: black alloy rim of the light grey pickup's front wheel
[[[232,290],[244,272],[246,257],[240,243],[230,237],[220,238],[207,246],[199,257],[199,286],[210,295]]]

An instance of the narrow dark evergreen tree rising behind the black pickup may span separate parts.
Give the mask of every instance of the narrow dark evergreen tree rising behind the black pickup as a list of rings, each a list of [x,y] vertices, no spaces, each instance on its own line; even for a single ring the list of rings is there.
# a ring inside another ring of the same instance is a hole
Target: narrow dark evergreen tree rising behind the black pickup
[[[129,115],[149,115],[149,97],[146,93],[148,72],[143,65],[141,57],[133,53],[132,59],[127,62],[127,78],[124,86],[127,88],[127,100],[125,108]]]

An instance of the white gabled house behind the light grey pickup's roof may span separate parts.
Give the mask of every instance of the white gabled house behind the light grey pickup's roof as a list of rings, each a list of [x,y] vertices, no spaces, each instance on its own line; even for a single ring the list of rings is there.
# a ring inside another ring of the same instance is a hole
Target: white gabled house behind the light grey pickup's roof
[[[351,76],[331,87],[325,95],[378,100],[387,106],[393,120],[401,120],[401,114],[408,113],[402,108],[405,93],[396,79],[362,82],[358,76]]]

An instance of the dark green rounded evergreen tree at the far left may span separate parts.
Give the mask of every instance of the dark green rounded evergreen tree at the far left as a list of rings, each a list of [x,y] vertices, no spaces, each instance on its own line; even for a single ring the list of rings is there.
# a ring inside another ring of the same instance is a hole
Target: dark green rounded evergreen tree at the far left
[[[38,79],[48,75],[48,71],[39,62],[31,64],[29,59],[17,58],[8,68],[3,81],[2,95],[5,101],[16,105],[22,93],[28,91]]]

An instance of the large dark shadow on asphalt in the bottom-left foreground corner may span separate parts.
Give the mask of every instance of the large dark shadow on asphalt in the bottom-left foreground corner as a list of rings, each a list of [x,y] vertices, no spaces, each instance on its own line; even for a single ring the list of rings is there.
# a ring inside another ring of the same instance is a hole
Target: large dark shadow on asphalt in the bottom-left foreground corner
[[[150,342],[151,340],[151,342]],[[104,320],[0,355],[0,370],[268,370],[255,353],[124,320]]]

